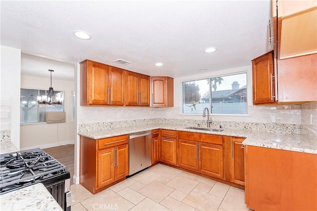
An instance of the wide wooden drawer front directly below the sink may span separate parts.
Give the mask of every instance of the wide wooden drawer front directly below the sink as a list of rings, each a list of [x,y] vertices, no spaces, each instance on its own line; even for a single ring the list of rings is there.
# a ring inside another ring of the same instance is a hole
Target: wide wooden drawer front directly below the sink
[[[178,131],[178,138],[201,141],[213,144],[222,144],[222,135],[213,135],[199,132]]]

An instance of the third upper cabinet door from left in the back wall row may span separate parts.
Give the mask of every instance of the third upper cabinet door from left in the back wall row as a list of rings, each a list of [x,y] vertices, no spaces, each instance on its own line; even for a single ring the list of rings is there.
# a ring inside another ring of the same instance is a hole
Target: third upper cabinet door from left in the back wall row
[[[127,102],[126,105],[139,105],[139,74],[127,71]]]

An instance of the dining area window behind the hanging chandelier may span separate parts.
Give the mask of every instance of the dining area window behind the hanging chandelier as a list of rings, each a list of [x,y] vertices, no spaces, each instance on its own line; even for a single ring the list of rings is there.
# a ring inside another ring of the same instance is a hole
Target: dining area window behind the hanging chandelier
[[[45,123],[46,113],[64,111],[64,105],[38,105],[37,97],[46,95],[48,90],[21,88],[20,91],[20,124]],[[54,91],[56,97],[64,101],[63,91]]]

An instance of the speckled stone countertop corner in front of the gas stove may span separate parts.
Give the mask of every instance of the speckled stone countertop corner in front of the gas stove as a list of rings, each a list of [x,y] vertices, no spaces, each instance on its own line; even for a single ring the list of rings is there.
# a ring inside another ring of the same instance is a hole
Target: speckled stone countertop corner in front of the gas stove
[[[2,211],[63,211],[42,183],[0,195]]]

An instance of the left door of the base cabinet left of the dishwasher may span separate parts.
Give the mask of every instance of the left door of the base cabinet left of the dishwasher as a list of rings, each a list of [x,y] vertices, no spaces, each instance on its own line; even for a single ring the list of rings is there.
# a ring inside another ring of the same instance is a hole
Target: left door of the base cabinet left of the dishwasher
[[[114,182],[114,148],[98,151],[98,188]]]

